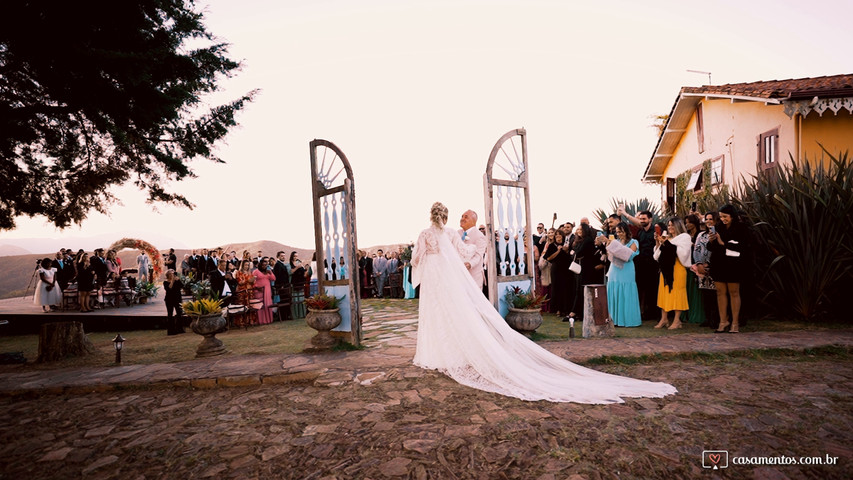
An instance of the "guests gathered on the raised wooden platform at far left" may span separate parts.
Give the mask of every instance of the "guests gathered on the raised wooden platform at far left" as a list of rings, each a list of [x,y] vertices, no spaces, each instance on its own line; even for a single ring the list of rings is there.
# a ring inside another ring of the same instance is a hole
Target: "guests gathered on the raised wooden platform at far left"
[[[149,281],[151,277],[148,255],[144,251],[139,252],[137,273],[129,275],[116,253],[103,248],[97,248],[91,254],[82,249],[75,253],[70,248],[62,248],[56,252],[55,258],[40,260],[34,303],[41,305],[45,312],[56,310],[62,306],[63,292],[76,290],[79,311],[91,312],[110,303],[118,306],[122,298],[132,298],[137,281]],[[175,264],[174,249],[163,257],[167,268]],[[117,296],[104,298],[104,289],[108,285],[118,292]]]

